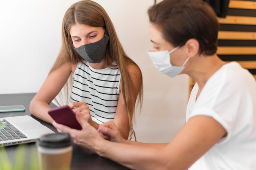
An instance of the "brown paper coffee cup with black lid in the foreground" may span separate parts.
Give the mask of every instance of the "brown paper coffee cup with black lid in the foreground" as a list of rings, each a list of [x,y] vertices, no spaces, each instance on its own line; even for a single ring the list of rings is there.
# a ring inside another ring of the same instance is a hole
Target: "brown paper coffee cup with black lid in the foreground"
[[[45,134],[36,145],[40,170],[70,170],[73,147],[69,134]]]

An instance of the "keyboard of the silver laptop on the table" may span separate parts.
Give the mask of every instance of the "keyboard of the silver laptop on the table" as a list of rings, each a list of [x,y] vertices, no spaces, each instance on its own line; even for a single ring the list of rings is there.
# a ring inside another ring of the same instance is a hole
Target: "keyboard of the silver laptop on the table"
[[[3,119],[0,121],[0,141],[27,138],[22,132],[16,129],[11,123]]]

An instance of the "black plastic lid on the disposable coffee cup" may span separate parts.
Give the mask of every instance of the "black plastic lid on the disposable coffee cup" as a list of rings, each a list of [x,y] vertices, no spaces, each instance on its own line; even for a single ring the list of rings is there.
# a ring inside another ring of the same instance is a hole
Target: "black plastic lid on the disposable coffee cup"
[[[71,137],[64,132],[45,134],[36,143],[47,148],[62,148],[71,145]]]

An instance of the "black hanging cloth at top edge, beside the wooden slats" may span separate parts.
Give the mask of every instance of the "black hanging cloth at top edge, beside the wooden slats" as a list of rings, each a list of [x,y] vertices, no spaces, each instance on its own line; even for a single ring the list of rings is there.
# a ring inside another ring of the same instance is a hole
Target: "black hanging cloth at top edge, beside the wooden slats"
[[[203,0],[209,4],[218,17],[225,18],[227,15],[227,9],[229,8],[229,0]]]

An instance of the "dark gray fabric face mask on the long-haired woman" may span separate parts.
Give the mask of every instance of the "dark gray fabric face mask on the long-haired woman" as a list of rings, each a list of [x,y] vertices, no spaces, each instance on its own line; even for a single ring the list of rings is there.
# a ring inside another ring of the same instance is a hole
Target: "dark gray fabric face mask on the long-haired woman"
[[[100,63],[105,56],[109,37],[107,34],[97,42],[82,45],[81,47],[74,47],[76,52],[89,63]]]

